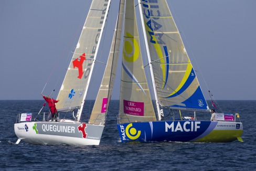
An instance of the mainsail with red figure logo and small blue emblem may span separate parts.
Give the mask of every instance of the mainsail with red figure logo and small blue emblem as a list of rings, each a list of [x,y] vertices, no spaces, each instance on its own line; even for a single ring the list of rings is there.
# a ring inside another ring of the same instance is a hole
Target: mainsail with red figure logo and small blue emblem
[[[56,104],[58,111],[81,108],[81,113],[109,5],[110,0],[92,1],[76,50],[57,97],[60,100]]]

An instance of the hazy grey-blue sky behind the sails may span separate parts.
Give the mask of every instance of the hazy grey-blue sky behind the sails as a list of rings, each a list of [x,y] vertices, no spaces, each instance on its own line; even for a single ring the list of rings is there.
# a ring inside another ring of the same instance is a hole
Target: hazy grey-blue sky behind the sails
[[[89,2],[0,1],[0,100],[42,99],[43,89],[44,94],[55,89],[57,97]],[[256,100],[256,1],[168,3],[206,99],[209,89],[217,100]],[[112,0],[111,5],[102,58],[109,54],[119,1]],[[99,65],[95,69],[102,68]],[[91,88],[88,99],[98,93],[94,83]],[[115,79],[112,99],[119,99],[119,89],[120,74]]]

